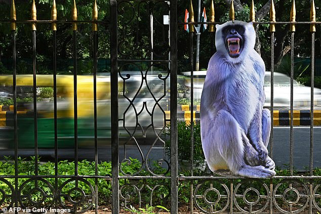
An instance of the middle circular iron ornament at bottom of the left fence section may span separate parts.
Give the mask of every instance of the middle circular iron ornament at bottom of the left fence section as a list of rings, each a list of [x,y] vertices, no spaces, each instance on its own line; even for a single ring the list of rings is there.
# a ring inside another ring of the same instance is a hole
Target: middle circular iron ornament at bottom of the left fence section
[[[55,190],[45,179],[31,178],[23,182],[18,191],[21,208],[31,213],[44,213],[53,206]]]

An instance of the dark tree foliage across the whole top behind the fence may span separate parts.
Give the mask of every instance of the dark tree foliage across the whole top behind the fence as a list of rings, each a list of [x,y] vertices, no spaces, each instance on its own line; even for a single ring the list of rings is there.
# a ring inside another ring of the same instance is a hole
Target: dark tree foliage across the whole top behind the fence
[[[269,6],[271,0],[255,1],[256,21],[269,21]],[[10,0],[0,1],[0,13],[3,20],[10,20]],[[17,20],[30,19],[31,0],[16,0]],[[58,20],[71,20],[71,0],[56,0]],[[197,2],[193,2],[195,21],[197,21]],[[189,71],[190,68],[190,35],[183,30],[184,11],[189,8],[190,1],[178,1],[178,69],[179,72]],[[76,1],[78,20],[85,21],[92,19],[93,1]],[[210,0],[201,3],[201,9],[207,10],[209,19]],[[215,20],[225,22],[229,20],[230,0],[215,1]],[[289,21],[291,1],[275,1],[276,21]],[[37,19],[51,19],[52,0],[36,1]],[[98,0],[98,17],[100,21],[106,21],[99,25],[98,31],[98,57],[109,58],[109,1]],[[235,19],[248,21],[250,12],[250,0],[235,0]],[[321,7],[321,2],[315,1],[316,8]],[[303,0],[296,2],[297,21],[309,21],[310,1]],[[202,11],[202,10],[201,10]],[[153,14],[153,41],[150,40],[150,14]],[[158,1],[129,1],[118,4],[118,53],[121,59],[168,59],[169,56],[169,26],[163,24],[163,15],[169,15],[167,2]],[[316,21],[321,15],[316,14]],[[309,25],[297,24],[295,33],[295,55],[309,57],[311,52],[311,37]],[[270,69],[271,33],[268,24],[256,25],[257,42],[256,50],[266,62],[267,69]],[[317,31],[319,31],[317,25]],[[32,56],[31,26],[29,23],[17,23],[17,58],[30,58]],[[288,24],[276,24],[275,32],[275,64],[290,51],[290,36]],[[215,33],[208,31],[200,35],[200,69],[206,69],[207,63],[215,52]],[[193,51],[195,54],[196,36],[193,36]],[[316,33],[315,53],[320,56],[320,38]],[[59,59],[72,58],[72,29],[70,23],[59,23],[57,30],[57,51]],[[38,23],[36,32],[37,61],[50,61],[52,57],[52,31],[50,24]],[[77,56],[78,58],[90,59],[93,52],[93,35],[90,23],[79,23],[77,31]],[[153,52],[153,56],[151,53]],[[10,24],[0,22],[0,60],[11,58],[12,44]],[[195,57],[194,57],[195,60]],[[24,61],[28,64],[28,61]],[[65,68],[67,70],[67,67]],[[41,70],[41,69],[40,69]],[[46,72],[44,72],[46,73]]]

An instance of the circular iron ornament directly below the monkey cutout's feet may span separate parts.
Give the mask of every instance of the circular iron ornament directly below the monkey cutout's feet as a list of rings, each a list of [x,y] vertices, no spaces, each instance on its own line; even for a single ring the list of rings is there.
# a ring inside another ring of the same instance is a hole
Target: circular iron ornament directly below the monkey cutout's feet
[[[253,183],[258,183],[254,186],[262,186],[264,187],[264,192],[265,194],[262,195],[259,190],[257,190],[254,187],[251,187]],[[245,185],[245,186],[244,186]],[[248,187],[246,190],[242,190],[243,187]],[[251,201],[248,199],[247,194],[251,193],[251,195],[254,196],[254,200]],[[267,205],[269,204],[270,201],[270,191],[267,185],[261,181],[258,180],[245,180],[240,183],[238,183],[234,189],[234,203],[237,209],[242,211],[243,213],[260,213],[264,209],[266,209]],[[240,207],[238,203],[237,198],[242,198],[244,203],[249,206],[249,210],[245,210],[244,208]],[[258,207],[259,206],[259,207]],[[259,208],[259,209],[258,209]]]

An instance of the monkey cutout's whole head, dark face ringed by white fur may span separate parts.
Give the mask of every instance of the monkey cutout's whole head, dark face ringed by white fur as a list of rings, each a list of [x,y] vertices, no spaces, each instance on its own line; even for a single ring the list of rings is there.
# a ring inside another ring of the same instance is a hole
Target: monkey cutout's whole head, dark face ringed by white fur
[[[252,22],[228,21],[216,25],[215,46],[229,63],[244,60],[249,50],[254,49],[255,30]]]

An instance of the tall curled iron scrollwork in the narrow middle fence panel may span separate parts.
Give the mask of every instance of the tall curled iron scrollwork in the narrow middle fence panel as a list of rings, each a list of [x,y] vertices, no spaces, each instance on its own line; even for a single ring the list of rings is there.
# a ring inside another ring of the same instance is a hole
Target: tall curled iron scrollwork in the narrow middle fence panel
[[[126,176],[136,176],[146,169],[153,176],[164,176],[169,173],[170,163],[165,156],[165,140],[162,136],[167,124],[166,108],[168,108],[168,84],[170,71],[168,64],[155,62],[145,65],[137,63],[124,63],[118,70],[118,75],[122,79],[122,88],[119,93],[123,97],[124,105],[121,107],[122,117],[119,119],[123,123],[123,129],[128,135],[128,140],[124,144],[125,158],[121,161],[131,165],[132,161],[127,157],[127,146],[135,145],[137,154],[141,159],[141,167],[137,172],[128,174],[123,170],[121,164],[120,171]],[[138,71],[128,71],[138,69]],[[135,84],[134,84],[135,83]],[[142,96],[144,101],[142,101]],[[149,118],[146,119],[146,116]],[[149,135],[154,141],[147,151],[141,149],[138,135],[143,138]],[[155,147],[162,148],[163,157],[157,160],[149,158]],[[166,168],[166,172],[157,172],[157,167]]]

